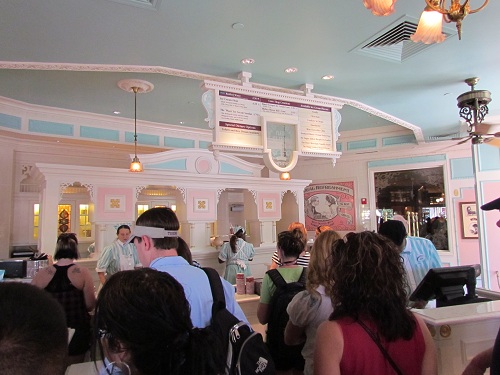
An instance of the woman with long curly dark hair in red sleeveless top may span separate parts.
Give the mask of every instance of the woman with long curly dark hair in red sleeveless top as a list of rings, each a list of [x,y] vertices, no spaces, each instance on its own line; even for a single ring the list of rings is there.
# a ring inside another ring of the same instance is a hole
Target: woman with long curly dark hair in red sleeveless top
[[[432,337],[406,306],[404,272],[398,249],[379,234],[335,242],[327,285],[333,313],[318,328],[315,375],[437,374]]]

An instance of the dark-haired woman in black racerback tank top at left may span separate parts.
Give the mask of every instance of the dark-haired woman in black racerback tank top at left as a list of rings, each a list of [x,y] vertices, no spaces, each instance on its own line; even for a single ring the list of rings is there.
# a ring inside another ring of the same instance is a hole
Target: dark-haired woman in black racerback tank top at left
[[[90,348],[90,315],[95,307],[94,281],[89,270],[75,264],[79,258],[78,242],[73,233],[58,237],[54,260],[41,269],[32,284],[56,298],[66,312],[66,325],[75,329],[69,343],[68,364],[83,362]]]

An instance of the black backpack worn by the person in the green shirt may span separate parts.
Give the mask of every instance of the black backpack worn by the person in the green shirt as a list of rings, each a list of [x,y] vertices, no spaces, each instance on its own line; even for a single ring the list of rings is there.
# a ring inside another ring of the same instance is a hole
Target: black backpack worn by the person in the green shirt
[[[298,281],[287,283],[277,269],[267,271],[276,291],[269,302],[269,319],[267,322],[266,343],[278,370],[304,368],[304,358],[301,351],[304,344],[286,345],[284,340],[285,327],[289,316],[286,312],[288,304],[293,297],[306,288],[306,271],[304,268]]]

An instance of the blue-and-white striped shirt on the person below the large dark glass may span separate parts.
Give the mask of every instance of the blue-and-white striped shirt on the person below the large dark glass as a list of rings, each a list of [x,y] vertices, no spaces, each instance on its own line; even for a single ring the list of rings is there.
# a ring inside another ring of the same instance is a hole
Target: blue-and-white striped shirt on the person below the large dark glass
[[[422,237],[406,237],[406,247],[401,252],[412,293],[431,268],[442,267],[434,244]]]

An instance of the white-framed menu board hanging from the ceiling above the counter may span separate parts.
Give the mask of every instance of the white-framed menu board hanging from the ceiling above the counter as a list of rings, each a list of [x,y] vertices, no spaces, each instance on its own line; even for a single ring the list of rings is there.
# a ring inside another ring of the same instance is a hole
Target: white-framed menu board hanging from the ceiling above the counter
[[[300,155],[335,160],[342,104],[314,97],[205,81],[202,103],[214,129],[210,149],[264,154],[276,172],[293,169]]]

